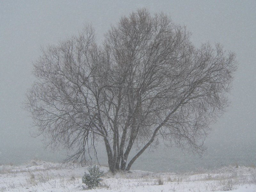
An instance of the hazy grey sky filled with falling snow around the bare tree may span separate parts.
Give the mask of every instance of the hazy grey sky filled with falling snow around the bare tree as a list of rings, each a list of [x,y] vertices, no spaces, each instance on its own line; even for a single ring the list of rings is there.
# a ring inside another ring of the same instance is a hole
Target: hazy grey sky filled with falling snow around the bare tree
[[[170,13],[174,22],[186,25],[192,32],[191,41],[197,47],[206,41],[220,42],[237,54],[239,66],[230,94],[231,106],[212,126],[206,146],[223,151],[228,146],[236,146],[237,150],[239,146],[256,148],[256,1],[2,0],[0,163],[61,156],[44,151],[40,138],[30,137],[32,120],[21,108],[34,79],[32,61],[40,56],[40,46],[76,35],[86,22],[92,23],[101,42],[110,24],[141,7],[147,7],[152,14]]]

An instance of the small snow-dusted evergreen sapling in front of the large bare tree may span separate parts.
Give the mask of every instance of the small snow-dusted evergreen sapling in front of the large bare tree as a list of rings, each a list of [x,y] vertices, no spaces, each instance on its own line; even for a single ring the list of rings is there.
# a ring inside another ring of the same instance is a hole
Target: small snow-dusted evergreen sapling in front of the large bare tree
[[[102,181],[100,177],[103,176],[103,171],[100,171],[100,167],[97,165],[89,167],[88,171],[89,174],[86,172],[84,173],[82,183],[85,183],[89,189],[97,187],[100,184],[100,181]]]

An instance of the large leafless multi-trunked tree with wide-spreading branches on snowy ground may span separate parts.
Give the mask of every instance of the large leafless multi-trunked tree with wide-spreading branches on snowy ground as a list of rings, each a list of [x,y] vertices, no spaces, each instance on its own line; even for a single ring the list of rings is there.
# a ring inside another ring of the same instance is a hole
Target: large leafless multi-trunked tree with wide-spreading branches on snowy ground
[[[146,9],[122,17],[101,46],[86,25],[78,36],[42,49],[27,93],[39,134],[86,161],[103,142],[111,172],[129,170],[158,140],[200,152],[209,125],[228,106],[235,54],[199,49],[186,28]],[[132,148],[137,154],[127,162]]]

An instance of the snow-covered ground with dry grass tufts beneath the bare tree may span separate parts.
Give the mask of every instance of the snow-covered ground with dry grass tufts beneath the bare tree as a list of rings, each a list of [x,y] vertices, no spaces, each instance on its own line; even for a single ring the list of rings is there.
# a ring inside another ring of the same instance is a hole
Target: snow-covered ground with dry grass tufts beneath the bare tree
[[[140,170],[112,175],[107,167],[100,187],[86,190],[82,176],[85,167],[33,160],[21,166],[0,165],[0,192],[256,192],[256,168],[222,167],[189,173],[154,173]],[[162,183],[162,184],[161,184]]]

